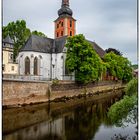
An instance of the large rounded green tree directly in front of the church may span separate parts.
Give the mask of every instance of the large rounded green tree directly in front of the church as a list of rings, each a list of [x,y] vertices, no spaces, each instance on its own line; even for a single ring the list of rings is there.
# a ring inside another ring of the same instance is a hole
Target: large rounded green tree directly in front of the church
[[[75,72],[75,81],[85,84],[98,80],[103,71],[103,63],[85,37],[82,34],[69,37],[66,47],[66,67],[70,72]]]

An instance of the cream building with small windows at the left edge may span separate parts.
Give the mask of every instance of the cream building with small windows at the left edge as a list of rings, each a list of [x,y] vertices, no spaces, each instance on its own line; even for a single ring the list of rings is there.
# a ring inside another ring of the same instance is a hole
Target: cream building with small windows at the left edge
[[[4,43],[2,48],[3,62],[2,72],[3,74],[18,74],[18,64],[13,63],[13,46],[12,44]]]

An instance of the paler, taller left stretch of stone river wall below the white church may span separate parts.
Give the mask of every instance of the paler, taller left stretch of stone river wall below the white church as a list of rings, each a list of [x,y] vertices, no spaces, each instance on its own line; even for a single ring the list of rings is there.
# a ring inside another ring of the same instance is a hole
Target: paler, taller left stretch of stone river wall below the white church
[[[3,80],[3,105],[48,101],[47,82]]]

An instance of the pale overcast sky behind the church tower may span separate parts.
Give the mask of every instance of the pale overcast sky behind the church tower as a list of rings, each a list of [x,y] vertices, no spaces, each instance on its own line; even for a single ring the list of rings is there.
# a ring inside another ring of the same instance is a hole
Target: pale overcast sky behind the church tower
[[[3,25],[24,19],[27,27],[54,38],[62,0],[3,0]],[[70,0],[77,34],[104,50],[115,48],[137,64],[137,0]]]

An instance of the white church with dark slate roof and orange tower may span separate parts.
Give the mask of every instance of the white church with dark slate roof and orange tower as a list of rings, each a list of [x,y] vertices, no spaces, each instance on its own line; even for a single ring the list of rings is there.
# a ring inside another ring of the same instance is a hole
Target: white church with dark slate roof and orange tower
[[[40,77],[44,80],[74,80],[65,67],[67,37],[76,35],[76,20],[69,0],[62,0],[55,23],[55,38],[31,35],[18,54],[19,75]],[[103,58],[105,51],[89,41],[96,53]]]

